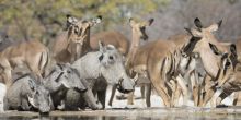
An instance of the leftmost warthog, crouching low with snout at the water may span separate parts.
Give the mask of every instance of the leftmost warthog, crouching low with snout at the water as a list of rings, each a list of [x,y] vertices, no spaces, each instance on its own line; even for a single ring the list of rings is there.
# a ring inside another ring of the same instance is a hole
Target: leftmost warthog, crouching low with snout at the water
[[[25,74],[13,82],[3,104],[4,110],[37,109],[41,113],[48,113],[53,105],[49,91],[32,74]]]

